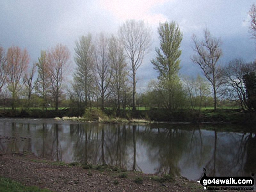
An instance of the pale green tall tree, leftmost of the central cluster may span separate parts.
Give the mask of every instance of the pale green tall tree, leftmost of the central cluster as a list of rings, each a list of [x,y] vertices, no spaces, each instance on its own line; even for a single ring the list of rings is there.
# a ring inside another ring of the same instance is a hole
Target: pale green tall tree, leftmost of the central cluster
[[[91,34],[82,36],[79,38],[79,41],[75,42],[75,63],[77,64],[77,68],[73,76],[75,84],[78,85],[76,88],[81,89],[81,91],[77,91],[84,94],[85,107],[88,106],[88,101],[91,98],[92,84],[94,82],[94,50],[95,47],[92,44]]]

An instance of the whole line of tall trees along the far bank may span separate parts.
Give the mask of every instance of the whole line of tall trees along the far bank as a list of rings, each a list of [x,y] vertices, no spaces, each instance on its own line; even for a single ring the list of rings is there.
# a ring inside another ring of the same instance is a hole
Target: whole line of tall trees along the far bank
[[[249,10],[250,31],[256,35],[256,7]],[[244,110],[256,109],[256,63],[234,59],[221,66],[221,40],[203,30],[203,38],[193,34],[194,54],[191,61],[201,67],[205,77],[184,77],[179,74],[181,41],[183,34],[174,21],[160,23],[157,28],[160,47],[151,64],[157,71],[157,80],[150,81],[148,89],[137,94],[137,70],[151,46],[151,28],[143,20],[127,20],[119,26],[117,35],[92,34],[75,41],[76,64],[72,83],[67,86],[71,66],[68,47],[57,44],[42,50],[38,61],[29,67],[30,56],[26,49],[0,47],[1,105],[7,101],[16,107],[49,106],[58,110],[61,101],[84,110],[89,107],[136,111],[139,102],[169,111],[184,108],[199,111],[203,103],[212,102],[217,108],[218,98],[237,102]],[[213,95],[213,97],[211,96]],[[21,102],[22,101],[22,102]]]

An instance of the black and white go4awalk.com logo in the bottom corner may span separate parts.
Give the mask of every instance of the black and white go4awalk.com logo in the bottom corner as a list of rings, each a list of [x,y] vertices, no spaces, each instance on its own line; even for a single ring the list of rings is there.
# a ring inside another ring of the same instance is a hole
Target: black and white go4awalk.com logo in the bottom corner
[[[253,191],[254,179],[252,177],[208,177],[204,168],[204,176],[198,183],[201,183],[205,190]]]

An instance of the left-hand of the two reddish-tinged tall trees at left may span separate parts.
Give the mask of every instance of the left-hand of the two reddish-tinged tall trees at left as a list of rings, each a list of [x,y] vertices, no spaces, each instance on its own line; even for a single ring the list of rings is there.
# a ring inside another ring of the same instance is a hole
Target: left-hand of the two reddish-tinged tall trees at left
[[[8,89],[12,94],[12,109],[15,107],[17,94],[23,84],[22,79],[27,72],[30,57],[27,50],[21,50],[20,47],[10,47],[7,51],[7,82]]]

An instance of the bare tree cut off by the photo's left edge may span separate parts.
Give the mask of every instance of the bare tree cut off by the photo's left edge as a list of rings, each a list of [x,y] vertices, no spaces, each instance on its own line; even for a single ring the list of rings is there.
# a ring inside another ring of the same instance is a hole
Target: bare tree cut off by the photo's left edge
[[[7,58],[3,47],[0,47],[0,93],[7,80],[7,71]]]

